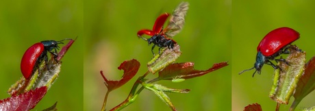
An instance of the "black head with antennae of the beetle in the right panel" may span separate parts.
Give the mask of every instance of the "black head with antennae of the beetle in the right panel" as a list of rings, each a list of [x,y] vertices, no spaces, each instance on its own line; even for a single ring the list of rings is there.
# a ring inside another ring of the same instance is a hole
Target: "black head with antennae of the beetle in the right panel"
[[[255,75],[255,73],[257,72],[258,74],[260,74],[260,72],[262,71],[262,66],[264,66],[264,62],[266,60],[266,57],[264,55],[262,55],[262,52],[258,51],[257,52],[257,56],[256,56],[256,62],[254,64],[254,67],[252,67],[251,69],[246,69],[244,71],[241,71],[238,74],[242,74],[245,71],[250,71],[252,69],[256,69],[256,71],[253,73],[253,77]]]

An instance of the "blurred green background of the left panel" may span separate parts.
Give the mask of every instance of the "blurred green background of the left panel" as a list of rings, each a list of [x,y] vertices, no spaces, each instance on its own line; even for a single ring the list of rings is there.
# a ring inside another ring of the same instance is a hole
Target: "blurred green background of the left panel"
[[[41,40],[77,38],[62,59],[57,81],[34,108],[83,109],[83,1],[0,1],[0,99],[20,77],[23,53]],[[64,41],[68,42],[68,41]],[[60,45],[63,47],[64,45]]]

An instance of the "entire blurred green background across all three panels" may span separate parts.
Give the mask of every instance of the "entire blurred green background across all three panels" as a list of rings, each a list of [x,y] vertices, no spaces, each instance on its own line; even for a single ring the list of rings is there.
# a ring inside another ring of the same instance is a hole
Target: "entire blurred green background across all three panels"
[[[100,110],[107,89],[99,71],[103,70],[110,79],[119,79],[123,74],[117,69],[121,62],[136,59],[141,64],[138,74],[110,93],[107,109],[113,108],[125,100],[136,78],[147,71],[146,64],[153,57],[152,45],[147,46],[147,42],[138,39],[136,32],[151,29],[157,16],[173,12],[180,2],[1,1],[0,98],[9,97],[8,88],[23,77],[20,62],[28,47],[41,40],[79,36],[62,60],[60,77],[35,110],[48,108],[55,101],[60,110]],[[268,97],[273,68],[265,65],[262,74],[255,77],[251,77],[254,71],[238,73],[253,67],[258,43],[277,27],[296,29],[301,38],[293,45],[306,51],[307,61],[310,60],[315,55],[312,47],[315,1],[188,2],[186,24],[174,37],[182,51],[177,62],[194,62],[195,69],[199,70],[217,62],[229,61],[231,65],[180,83],[157,82],[170,88],[191,89],[188,94],[168,93],[177,110],[243,110],[251,103],[260,103],[263,110],[275,110],[275,101]],[[314,97],[314,92],[307,95],[297,110],[314,106]],[[281,110],[288,110],[293,100],[292,97],[289,105],[282,105]],[[169,108],[151,91],[143,90],[124,110]]]

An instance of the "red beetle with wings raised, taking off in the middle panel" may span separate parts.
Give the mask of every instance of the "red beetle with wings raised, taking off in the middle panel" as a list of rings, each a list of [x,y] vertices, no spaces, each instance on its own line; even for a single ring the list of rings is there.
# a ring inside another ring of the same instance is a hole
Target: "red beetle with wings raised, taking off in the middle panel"
[[[151,43],[154,44],[151,49],[153,55],[153,49],[155,45],[157,45],[157,47],[160,47],[160,53],[161,48],[167,47],[168,49],[173,49],[174,45],[177,44],[177,42],[175,42],[175,40],[171,38],[178,34],[184,26],[187,10],[188,2],[181,2],[171,15],[171,18],[166,28],[163,29],[163,25],[168,16],[170,16],[170,14],[168,13],[161,14],[159,17],[156,18],[152,30],[141,29],[140,31],[138,31],[137,36],[139,38],[148,41],[149,45]],[[143,34],[151,36],[151,38],[144,38],[142,37]]]

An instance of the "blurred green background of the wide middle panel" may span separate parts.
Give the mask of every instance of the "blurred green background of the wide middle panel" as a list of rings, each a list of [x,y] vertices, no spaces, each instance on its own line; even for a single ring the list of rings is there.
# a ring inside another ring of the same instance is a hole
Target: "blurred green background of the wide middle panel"
[[[117,67],[136,59],[140,70],[125,86],[108,97],[110,110],[124,101],[136,79],[153,57],[151,46],[139,39],[140,29],[151,29],[155,18],[172,13],[181,1],[84,1],[84,110],[101,110],[107,88],[99,71],[120,79]],[[231,64],[231,1],[188,1],[184,29],[173,39],[181,46],[177,62],[194,62],[195,69],[209,69],[217,62]],[[147,36],[149,38],[149,36]],[[155,48],[157,51],[157,48]],[[157,75],[149,75],[149,78]],[[177,110],[231,110],[231,65],[184,82],[157,82],[170,88],[189,88],[188,94],[168,93]],[[143,90],[123,110],[170,110],[153,92]]]

